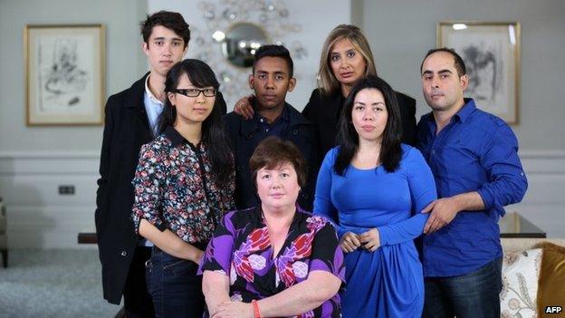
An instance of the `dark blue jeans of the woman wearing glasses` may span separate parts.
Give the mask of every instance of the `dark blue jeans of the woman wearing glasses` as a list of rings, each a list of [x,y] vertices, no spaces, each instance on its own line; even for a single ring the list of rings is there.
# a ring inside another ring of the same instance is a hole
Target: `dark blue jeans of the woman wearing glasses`
[[[197,270],[196,263],[153,247],[145,275],[156,317],[202,317],[205,300]]]

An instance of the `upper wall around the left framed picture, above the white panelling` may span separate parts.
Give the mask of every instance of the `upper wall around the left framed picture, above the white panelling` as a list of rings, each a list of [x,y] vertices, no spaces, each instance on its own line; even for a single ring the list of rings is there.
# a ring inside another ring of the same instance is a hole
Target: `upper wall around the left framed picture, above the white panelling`
[[[102,127],[26,127],[24,105],[25,24],[105,24],[106,96],[140,77],[139,21],[144,2],[2,1],[0,2],[0,152],[99,152]],[[102,100],[106,100],[104,97]]]

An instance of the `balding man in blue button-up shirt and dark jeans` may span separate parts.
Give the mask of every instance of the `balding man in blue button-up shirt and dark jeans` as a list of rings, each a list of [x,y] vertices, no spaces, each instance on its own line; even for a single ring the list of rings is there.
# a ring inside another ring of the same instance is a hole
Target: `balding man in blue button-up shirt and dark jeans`
[[[425,317],[500,317],[503,250],[498,218],[520,202],[527,180],[518,140],[500,118],[464,99],[461,57],[441,48],[426,54],[422,91],[432,111],[417,125],[418,149],[436,179],[424,209]]]

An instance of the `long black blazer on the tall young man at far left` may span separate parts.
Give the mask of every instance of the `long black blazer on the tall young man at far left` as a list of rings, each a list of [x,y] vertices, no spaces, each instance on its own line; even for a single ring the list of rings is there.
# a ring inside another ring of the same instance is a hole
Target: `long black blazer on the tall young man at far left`
[[[130,218],[134,199],[131,180],[138,166],[139,149],[153,140],[143,101],[147,76],[148,73],[129,89],[110,96],[105,107],[94,218],[104,298],[112,304],[120,304],[139,241]],[[216,98],[225,113],[222,94],[218,93]]]

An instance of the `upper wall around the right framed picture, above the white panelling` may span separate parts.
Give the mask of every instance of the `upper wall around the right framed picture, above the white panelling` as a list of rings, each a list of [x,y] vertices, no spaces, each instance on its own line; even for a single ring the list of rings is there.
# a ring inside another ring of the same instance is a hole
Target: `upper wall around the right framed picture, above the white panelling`
[[[418,115],[428,111],[419,69],[427,50],[436,47],[437,22],[520,22],[520,124],[512,129],[523,150],[565,150],[565,139],[559,137],[565,136],[565,107],[560,99],[565,72],[565,1],[365,0],[354,4],[363,6],[363,31],[380,76],[417,99]]]

